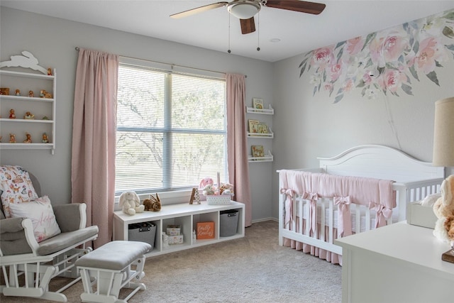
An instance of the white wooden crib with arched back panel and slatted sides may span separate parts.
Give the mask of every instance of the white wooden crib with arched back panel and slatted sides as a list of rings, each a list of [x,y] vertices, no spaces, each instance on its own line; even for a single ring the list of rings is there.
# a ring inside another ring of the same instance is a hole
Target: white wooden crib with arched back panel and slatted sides
[[[293,171],[394,181],[392,190],[397,206],[392,209],[392,218],[387,219],[387,224],[405,220],[406,206],[410,202],[439,192],[445,174],[444,167],[433,167],[430,162],[416,160],[400,150],[382,145],[360,145],[333,158],[318,159],[320,167]],[[280,172],[284,170],[277,172],[281,190],[283,180]],[[279,245],[291,246],[331,263],[342,264],[342,248],[333,244],[333,240],[338,238],[338,206],[334,205],[333,197],[321,197],[316,201],[315,232],[309,232],[309,228],[306,228],[312,224],[309,200],[301,194],[294,194],[292,205],[289,206],[287,202],[286,209],[287,197],[287,194],[279,194]],[[375,228],[376,212],[366,204],[352,203],[349,206],[353,233]],[[287,223],[286,211],[291,212],[287,214]]]

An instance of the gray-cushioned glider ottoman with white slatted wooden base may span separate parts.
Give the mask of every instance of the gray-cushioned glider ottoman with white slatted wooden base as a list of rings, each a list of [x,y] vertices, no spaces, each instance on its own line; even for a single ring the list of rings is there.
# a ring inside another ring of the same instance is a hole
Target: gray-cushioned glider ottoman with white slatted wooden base
[[[145,277],[144,254],[150,249],[150,244],[145,242],[113,241],[79,258],[75,265],[84,285],[80,295],[82,302],[126,303],[139,290],[146,290],[147,287],[138,281]],[[94,278],[93,282],[91,278]],[[123,287],[131,288],[133,292],[125,299],[118,299]]]

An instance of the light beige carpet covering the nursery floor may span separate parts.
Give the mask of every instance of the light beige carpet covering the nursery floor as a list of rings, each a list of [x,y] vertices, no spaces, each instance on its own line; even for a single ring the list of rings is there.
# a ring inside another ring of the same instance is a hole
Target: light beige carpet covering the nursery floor
[[[246,228],[245,238],[148,258],[147,290],[128,302],[341,302],[341,266],[279,246],[277,234],[277,222],[265,221]],[[79,282],[64,294],[80,302],[82,290]],[[0,302],[45,301],[2,295]]]

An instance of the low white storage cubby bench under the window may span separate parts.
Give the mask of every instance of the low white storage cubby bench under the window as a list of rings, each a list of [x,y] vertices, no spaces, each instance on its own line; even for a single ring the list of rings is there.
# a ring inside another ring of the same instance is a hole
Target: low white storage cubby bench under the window
[[[196,246],[204,246],[221,241],[228,241],[234,238],[244,237],[244,204],[231,201],[227,205],[209,205],[206,201],[201,204],[170,204],[163,205],[160,211],[145,211],[133,216],[124,214],[123,211],[114,212],[114,241],[128,241],[128,226],[142,222],[153,222],[156,225],[155,246],[153,250],[146,254],[147,257],[171,253],[173,251],[184,250]],[[238,227],[233,236],[220,237],[219,223],[221,211],[236,209],[238,210]],[[192,231],[196,231],[198,222],[214,222],[214,238],[197,239],[192,238]],[[167,226],[179,225],[183,235],[182,244],[164,246],[162,243],[162,233],[167,231]]]

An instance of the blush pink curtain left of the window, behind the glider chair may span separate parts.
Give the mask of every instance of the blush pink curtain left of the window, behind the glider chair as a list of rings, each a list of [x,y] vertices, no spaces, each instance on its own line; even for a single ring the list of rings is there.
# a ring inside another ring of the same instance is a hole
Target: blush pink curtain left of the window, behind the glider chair
[[[79,50],[72,122],[72,203],[87,203],[98,248],[112,238],[118,55]]]

